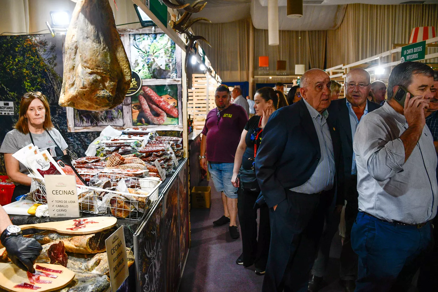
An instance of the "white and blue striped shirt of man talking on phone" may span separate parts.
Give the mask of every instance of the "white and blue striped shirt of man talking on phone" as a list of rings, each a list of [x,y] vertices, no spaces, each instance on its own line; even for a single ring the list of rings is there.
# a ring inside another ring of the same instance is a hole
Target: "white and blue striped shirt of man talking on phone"
[[[425,125],[405,162],[399,137],[407,128],[405,117],[388,102],[360,119],[353,140],[359,210],[386,221],[419,224],[437,211],[437,155]]]

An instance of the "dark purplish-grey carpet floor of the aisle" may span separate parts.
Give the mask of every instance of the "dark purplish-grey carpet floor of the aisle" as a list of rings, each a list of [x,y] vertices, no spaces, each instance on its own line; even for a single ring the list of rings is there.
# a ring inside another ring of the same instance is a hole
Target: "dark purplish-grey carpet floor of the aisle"
[[[211,180],[208,185],[212,186],[211,207],[191,209],[191,248],[179,292],[261,291],[263,276],[255,274],[254,266],[245,268],[235,263],[242,252],[240,238],[230,237],[228,225],[213,226],[212,222],[223,215],[223,207],[220,193],[215,191]],[[343,292],[339,285],[340,250],[341,238],[335,236],[324,278],[327,286],[321,292]]]

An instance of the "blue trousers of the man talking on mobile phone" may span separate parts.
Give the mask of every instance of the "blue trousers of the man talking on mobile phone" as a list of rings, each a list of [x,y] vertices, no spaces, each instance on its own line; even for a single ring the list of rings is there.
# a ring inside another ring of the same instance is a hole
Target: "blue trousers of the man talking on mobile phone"
[[[351,246],[359,256],[355,292],[407,291],[431,249],[432,225],[406,226],[357,214]]]

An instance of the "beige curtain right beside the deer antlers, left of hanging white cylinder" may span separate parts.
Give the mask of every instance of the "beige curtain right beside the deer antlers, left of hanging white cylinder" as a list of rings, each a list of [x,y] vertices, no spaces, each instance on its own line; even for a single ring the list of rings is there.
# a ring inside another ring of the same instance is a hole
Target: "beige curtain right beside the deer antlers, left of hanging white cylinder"
[[[191,28],[212,45],[199,42],[222,81],[248,81],[249,20],[229,23],[196,23]]]

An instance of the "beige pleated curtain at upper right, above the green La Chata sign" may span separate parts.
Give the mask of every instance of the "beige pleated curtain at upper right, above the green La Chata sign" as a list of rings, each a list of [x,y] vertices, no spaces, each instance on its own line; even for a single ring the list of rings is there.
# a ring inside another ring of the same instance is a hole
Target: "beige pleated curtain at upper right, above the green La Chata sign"
[[[393,44],[408,43],[417,26],[438,27],[437,4],[348,4],[339,28],[327,31],[327,67],[353,63],[392,49]],[[383,61],[390,62],[390,57]]]

